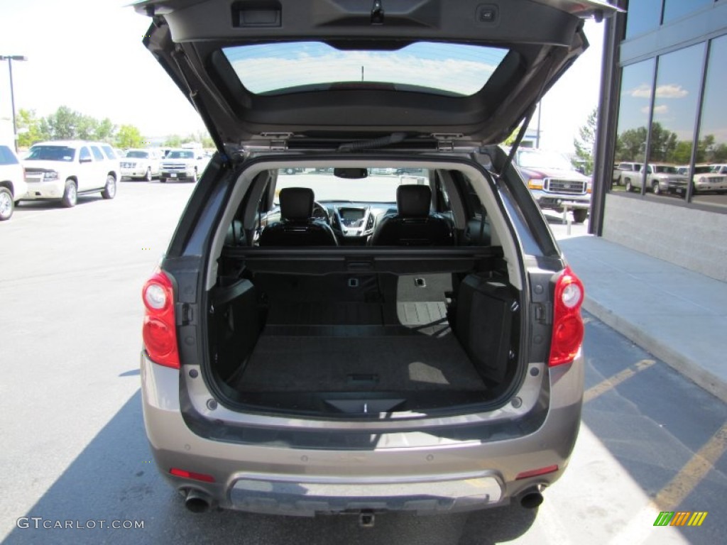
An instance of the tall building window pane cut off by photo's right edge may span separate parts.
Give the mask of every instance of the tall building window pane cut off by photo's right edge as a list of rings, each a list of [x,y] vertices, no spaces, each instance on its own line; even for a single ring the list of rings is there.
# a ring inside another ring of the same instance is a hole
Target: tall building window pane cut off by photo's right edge
[[[704,82],[692,202],[727,207],[727,36],[712,40]]]

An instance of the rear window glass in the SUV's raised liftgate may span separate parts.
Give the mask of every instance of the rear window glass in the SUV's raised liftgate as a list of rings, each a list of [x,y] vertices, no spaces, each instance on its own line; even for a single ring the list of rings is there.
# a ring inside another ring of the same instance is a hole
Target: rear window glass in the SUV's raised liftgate
[[[321,42],[222,49],[241,84],[254,94],[371,88],[475,94],[507,49],[416,42],[395,51],[341,50]]]

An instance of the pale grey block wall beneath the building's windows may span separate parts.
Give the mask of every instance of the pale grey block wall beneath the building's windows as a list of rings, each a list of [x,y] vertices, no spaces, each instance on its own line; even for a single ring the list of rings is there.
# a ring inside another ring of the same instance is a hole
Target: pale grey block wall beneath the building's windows
[[[727,214],[608,193],[603,238],[727,282]]]

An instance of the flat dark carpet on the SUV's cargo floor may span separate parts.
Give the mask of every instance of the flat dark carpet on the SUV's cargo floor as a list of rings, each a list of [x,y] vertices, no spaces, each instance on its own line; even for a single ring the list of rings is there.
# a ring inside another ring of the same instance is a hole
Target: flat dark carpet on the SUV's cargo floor
[[[260,336],[240,392],[483,391],[451,332],[369,336]]]

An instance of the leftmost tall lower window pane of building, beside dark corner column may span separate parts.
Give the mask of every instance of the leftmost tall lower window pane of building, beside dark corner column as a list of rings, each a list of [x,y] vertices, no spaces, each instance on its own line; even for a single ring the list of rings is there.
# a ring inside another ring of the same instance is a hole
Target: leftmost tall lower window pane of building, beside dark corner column
[[[613,190],[637,191],[641,187],[655,62],[648,59],[622,70]]]

